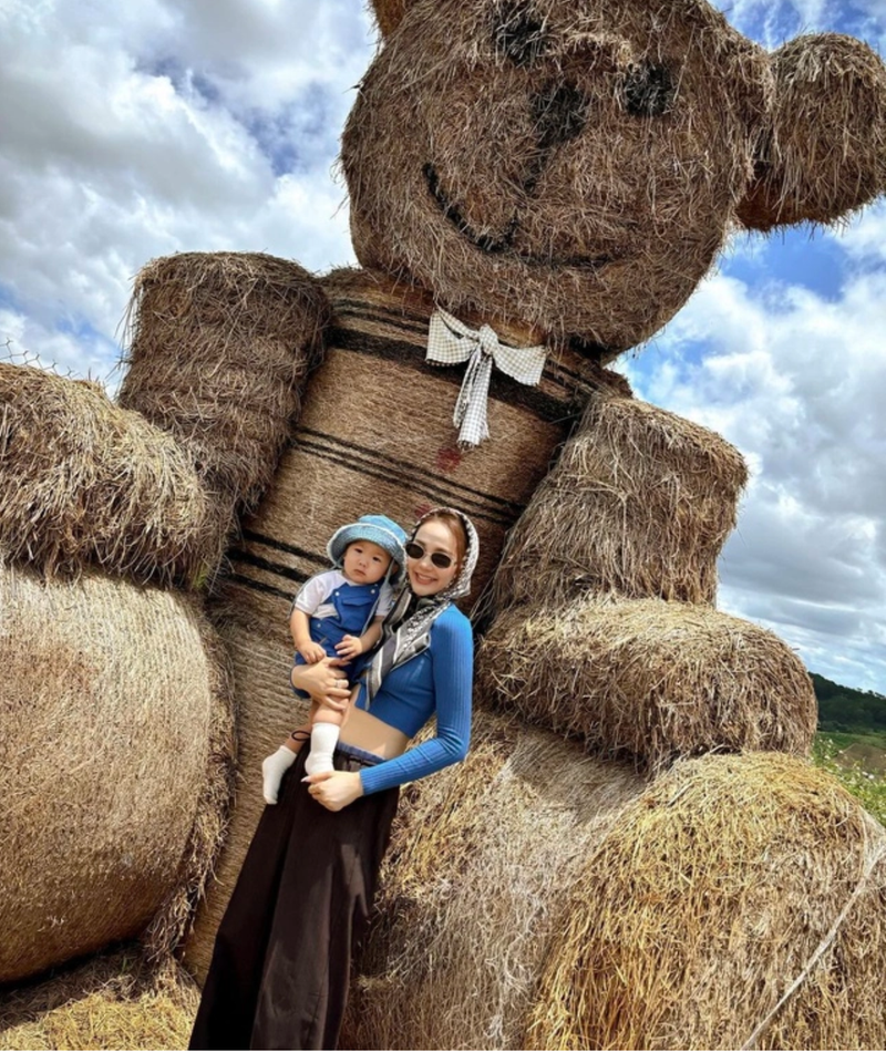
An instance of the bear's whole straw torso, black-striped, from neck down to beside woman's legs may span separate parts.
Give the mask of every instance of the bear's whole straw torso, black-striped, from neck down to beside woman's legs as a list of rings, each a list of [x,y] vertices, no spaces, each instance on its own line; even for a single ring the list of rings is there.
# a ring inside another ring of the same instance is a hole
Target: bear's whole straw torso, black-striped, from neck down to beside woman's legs
[[[332,532],[372,508],[409,527],[435,505],[460,507],[480,534],[478,594],[590,393],[612,386],[629,393],[616,374],[568,350],[550,355],[537,389],[496,370],[488,402],[495,440],[464,453],[452,423],[464,369],[425,361],[433,297],[353,270],[329,275],[323,289],[332,306],[323,361],[274,479],[229,551],[231,574],[214,596],[241,699],[244,781],[218,879],[185,948],[198,976],[264,806],[261,760],[303,719],[288,685],[288,610],[298,587],[328,567]],[[503,338],[522,342],[517,332]]]

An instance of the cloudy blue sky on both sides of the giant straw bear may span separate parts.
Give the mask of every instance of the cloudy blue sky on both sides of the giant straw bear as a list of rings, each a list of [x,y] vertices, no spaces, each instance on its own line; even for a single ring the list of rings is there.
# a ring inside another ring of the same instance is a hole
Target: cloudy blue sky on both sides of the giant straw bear
[[[886,51],[886,0],[720,7],[770,48],[835,30]],[[332,167],[374,47],[360,0],[0,0],[0,353],[113,389],[150,259],[353,260]],[[886,693],[884,303],[879,203],[842,231],[736,236],[620,368],[749,461],[720,606]]]

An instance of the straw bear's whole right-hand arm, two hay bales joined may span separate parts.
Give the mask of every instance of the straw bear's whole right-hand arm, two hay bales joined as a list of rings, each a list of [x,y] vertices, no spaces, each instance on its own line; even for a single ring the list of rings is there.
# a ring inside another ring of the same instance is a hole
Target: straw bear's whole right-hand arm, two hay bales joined
[[[653,772],[711,749],[806,753],[802,663],[712,609],[745,478],[719,435],[595,398],[508,538],[480,699]]]

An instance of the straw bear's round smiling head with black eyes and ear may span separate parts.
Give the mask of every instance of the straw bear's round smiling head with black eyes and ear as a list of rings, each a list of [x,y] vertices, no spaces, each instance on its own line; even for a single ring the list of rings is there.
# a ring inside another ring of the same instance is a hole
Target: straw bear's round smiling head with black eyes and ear
[[[704,0],[374,7],[342,144],[354,249],[452,310],[608,361],[731,229],[886,189],[886,71],[851,38],[769,53]]]

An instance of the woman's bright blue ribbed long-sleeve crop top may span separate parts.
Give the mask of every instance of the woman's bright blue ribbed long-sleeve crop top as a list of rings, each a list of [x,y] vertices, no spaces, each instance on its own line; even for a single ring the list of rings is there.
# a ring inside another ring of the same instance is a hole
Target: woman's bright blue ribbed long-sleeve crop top
[[[447,607],[431,626],[430,647],[385,675],[370,710],[409,738],[436,712],[436,738],[394,760],[364,767],[360,772],[364,793],[413,782],[464,760],[471,740],[473,675],[471,622],[456,607]],[[365,689],[357,705],[365,709]]]

